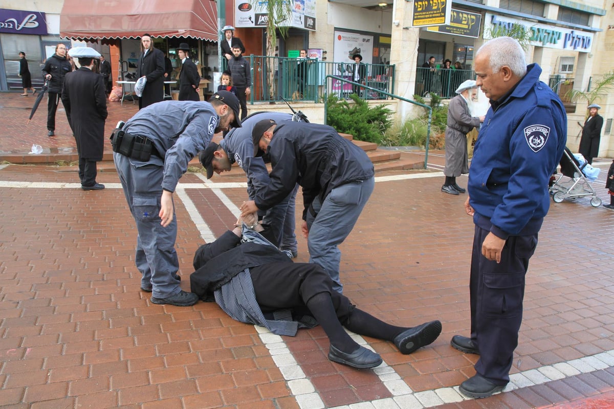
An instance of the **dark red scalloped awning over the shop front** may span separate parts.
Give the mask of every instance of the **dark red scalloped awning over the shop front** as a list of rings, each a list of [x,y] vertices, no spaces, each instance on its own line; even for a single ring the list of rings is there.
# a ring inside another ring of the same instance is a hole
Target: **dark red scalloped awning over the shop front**
[[[214,0],[64,0],[60,36],[72,39],[193,37],[217,41]]]

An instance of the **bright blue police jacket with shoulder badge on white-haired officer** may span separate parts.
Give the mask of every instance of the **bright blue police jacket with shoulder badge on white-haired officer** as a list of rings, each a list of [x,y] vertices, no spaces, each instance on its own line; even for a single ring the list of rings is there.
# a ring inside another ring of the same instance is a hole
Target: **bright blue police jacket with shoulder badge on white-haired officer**
[[[537,233],[550,207],[548,180],[567,142],[558,95],[539,80],[538,64],[486,114],[469,174],[473,220],[502,239]]]

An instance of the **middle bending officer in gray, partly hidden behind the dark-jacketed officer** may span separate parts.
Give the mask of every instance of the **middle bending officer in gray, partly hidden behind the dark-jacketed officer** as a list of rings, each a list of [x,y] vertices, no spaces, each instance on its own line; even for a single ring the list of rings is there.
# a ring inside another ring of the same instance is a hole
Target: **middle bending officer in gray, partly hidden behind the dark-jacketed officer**
[[[245,118],[241,122],[241,128],[232,129],[218,145],[209,143],[206,150],[200,154],[200,162],[207,169],[207,178],[211,178],[213,172],[221,173],[230,170],[230,166],[236,163],[247,175],[247,194],[253,200],[256,192],[264,189],[271,183],[265,162],[262,158],[254,158],[254,144],[252,143],[252,130],[254,125],[264,119],[272,118],[276,122],[303,121],[304,117],[291,115],[283,112],[257,112]],[[218,153],[216,153],[216,151]],[[226,155],[224,158],[223,155]],[[224,158],[214,160],[216,156]],[[223,162],[223,164],[222,164]],[[268,231],[273,237],[275,244],[280,250],[286,250],[292,257],[297,256],[297,236],[295,234],[295,199],[298,184],[292,193],[278,205],[266,212],[261,212],[262,223],[268,225]]]

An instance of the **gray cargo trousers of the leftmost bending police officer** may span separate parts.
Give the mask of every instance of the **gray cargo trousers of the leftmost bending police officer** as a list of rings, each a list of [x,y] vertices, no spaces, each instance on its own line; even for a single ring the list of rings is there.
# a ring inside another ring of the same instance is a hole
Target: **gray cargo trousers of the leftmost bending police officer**
[[[176,278],[179,259],[175,251],[177,218],[166,227],[160,224],[163,162],[157,156],[149,162],[136,161],[114,153],[115,169],[139,232],[136,240],[136,268],[141,272],[141,287],[152,289],[152,296],[167,298],[181,291]]]

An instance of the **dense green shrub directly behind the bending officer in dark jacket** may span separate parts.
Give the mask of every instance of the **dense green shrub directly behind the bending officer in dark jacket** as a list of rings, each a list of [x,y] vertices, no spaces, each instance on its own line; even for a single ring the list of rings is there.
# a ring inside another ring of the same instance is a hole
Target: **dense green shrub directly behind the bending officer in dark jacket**
[[[386,105],[371,107],[356,94],[351,94],[353,103],[331,94],[327,99],[328,125],[337,132],[351,134],[356,140],[375,142],[381,145],[384,133],[392,124],[392,110]]]

